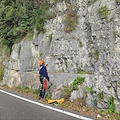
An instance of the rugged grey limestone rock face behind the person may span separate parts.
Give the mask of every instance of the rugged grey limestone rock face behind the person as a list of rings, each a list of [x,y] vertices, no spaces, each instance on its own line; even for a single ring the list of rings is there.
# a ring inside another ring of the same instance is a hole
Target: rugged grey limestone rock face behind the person
[[[64,31],[65,15],[69,5],[74,6],[78,23],[70,33]],[[108,18],[100,17],[101,6],[106,6]],[[45,23],[45,32],[34,39],[23,40],[13,48],[6,66],[4,84],[10,87],[38,88],[38,61],[48,63],[48,74],[55,87],[53,98],[62,95],[61,88],[77,77],[78,69],[89,71],[79,90],[71,93],[70,99],[85,97],[88,106],[108,108],[108,100],[114,98],[116,110],[120,110],[120,6],[115,0],[98,0],[87,4],[87,0],[71,0],[54,5],[57,16]],[[61,73],[62,72],[62,73]],[[81,75],[80,75],[81,76]],[[91,94],[86,86],[94,92]],[[104,97],[100,100],[99,95]]]

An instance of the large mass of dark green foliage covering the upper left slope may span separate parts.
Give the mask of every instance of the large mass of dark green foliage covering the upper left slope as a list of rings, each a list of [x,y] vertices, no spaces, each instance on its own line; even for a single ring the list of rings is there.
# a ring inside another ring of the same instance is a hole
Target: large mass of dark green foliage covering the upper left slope
[[[44,30],[44,22],[51,19],[50,4],[39,1],[5,1],[1,0],[0,7],[0,39],[7,45],[10,53],[12,46],[23,39],[28,33]]]

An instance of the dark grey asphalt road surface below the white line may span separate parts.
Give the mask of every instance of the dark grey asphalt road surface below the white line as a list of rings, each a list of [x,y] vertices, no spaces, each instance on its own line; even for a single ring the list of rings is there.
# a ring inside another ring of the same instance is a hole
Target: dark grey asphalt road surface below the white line
[[[0,120],[80,120],[0,91]],[[81,119],[82,120],[82,119]],[[87,119],[89,120],[89,119]]]

